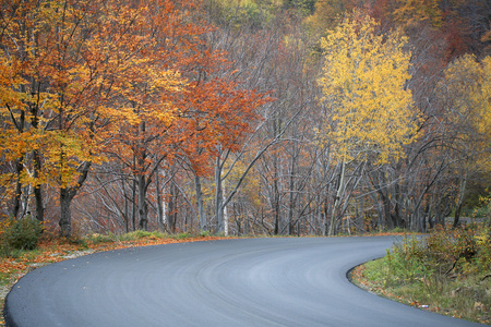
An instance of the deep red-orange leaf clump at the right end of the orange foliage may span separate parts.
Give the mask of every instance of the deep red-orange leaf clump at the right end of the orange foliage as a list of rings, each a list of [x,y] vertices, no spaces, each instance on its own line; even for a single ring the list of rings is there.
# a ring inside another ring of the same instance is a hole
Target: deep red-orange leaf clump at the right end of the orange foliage
[[[192,113],[182,121],[191,137],[182,144],[182,152],[195,167],[199,174],[211,169],[211,158],[217,147],[237,150],[244,135],[251,132],[259,120],[256,108],[271,101],[264,94],[240,89],[239,85],[227,78],[213,78],[205,83],[195,83],[189,102],[182,104]],[[197,164],[200,162],[200,164]]]

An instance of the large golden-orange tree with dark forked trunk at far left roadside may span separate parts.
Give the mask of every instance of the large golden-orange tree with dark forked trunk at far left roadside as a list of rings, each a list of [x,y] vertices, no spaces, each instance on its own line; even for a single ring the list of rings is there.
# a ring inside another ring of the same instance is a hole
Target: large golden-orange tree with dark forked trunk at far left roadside
[[[134,111],[147,105],[170,123],[169,94],[184,81],[165,64],[171,45],[159,31],[182,14],[158,0],[12,1],[4,10],[1,63],[12,83],[1,94],[2,134],[11,141],[2,154],[22,164],[17,184],[58,185],[61,234],[70,237],[71,202],[104,160],[115,122],[144,130]]]

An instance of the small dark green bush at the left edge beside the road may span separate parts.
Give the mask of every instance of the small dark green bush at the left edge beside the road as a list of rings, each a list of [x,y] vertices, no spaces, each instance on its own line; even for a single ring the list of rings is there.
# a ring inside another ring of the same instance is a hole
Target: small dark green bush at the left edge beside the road
[[[20,220],[12,219],[9,227],[2,233],[3,247],[14,250],[34,250],[39,243],[43,233],[43,223],[31,217]]]

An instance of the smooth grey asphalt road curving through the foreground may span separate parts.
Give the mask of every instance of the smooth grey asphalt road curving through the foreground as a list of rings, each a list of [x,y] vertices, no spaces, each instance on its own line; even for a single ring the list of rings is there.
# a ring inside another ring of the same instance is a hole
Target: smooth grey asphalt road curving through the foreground
[[[251,239],[97,253],[24,276],[8,326],[481,326],[351,284],[382,238]]]

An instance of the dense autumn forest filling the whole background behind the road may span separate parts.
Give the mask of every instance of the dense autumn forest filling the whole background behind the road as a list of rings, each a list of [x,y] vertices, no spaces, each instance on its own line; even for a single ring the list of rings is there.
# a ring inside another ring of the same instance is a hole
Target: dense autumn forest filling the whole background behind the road
[[[0,5],[0,219],[333,235],[490,198],[488,0]]]

